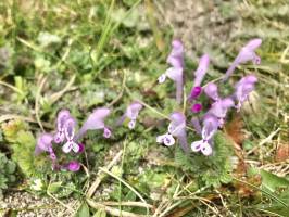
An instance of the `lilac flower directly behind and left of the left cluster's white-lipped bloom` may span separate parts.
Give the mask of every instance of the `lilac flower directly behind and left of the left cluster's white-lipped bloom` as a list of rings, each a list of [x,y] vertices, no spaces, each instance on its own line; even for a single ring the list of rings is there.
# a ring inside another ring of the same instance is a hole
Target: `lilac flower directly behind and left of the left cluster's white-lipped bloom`
[[[71,117],[71,113],[68,110],[61,110],[58,114],[58,119],[56,119],[56,128],[58,132],[54,135],[54,142],[55,143],[61,143],[65,139],[64,135],[64,125],[66,119]]]

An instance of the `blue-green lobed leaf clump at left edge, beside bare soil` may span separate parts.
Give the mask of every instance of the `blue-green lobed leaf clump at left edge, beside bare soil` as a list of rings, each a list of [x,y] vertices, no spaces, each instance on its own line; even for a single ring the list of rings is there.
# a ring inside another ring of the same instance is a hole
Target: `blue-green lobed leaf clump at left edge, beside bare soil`
[[[3,153],[0,153],[0,199],[3,196],[3,190],[14,183],[16,177],[16,164],[7,158]]]

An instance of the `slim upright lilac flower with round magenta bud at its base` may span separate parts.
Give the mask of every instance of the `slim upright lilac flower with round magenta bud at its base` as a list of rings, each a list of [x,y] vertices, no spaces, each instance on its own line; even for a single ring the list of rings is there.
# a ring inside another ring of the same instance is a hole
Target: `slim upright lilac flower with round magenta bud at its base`
[[[189,99],[196,99],[201,94],[201,92],[202,92],[201,82],[202,82],[204,75],[208,71],[209,64],[210,64],[209,55],[203,54],[200,58],[199,66],[198,66],[197,71],[194,72],[194,81],[193,81],[193,87],[191,89]]]

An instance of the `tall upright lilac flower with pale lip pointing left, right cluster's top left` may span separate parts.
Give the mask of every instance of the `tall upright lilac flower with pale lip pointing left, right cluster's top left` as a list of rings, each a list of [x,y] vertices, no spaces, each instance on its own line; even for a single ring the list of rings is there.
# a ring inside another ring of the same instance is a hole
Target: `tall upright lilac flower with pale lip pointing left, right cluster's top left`
[[[162,74],[158,80],[160,84],[164,82],[166,77],[175,81],[176,84],[176,100],[178,103],[181,102],[183,97],[183,86],[184,86],[184,78],[183,78],[183,71],[184,71],[184,47],[183,43],[178,40],[174,40],[173,49],[166,60],[167,63],[172,65],[168,69]]]

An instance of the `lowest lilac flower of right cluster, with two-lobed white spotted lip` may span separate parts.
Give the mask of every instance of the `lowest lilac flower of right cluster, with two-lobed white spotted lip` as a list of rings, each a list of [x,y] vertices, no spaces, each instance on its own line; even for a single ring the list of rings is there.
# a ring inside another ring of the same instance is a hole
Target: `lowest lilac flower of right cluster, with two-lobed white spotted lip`
[[[208,156],[212,154],[212,146],[210,144],[211,139],[218,128],[218,119],[213,115],[208,115],[203,119],[202,140],[191,143],[191,150],[193,152],[201,151],[203,155]]]

